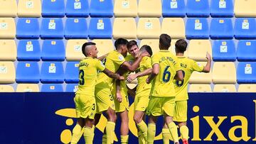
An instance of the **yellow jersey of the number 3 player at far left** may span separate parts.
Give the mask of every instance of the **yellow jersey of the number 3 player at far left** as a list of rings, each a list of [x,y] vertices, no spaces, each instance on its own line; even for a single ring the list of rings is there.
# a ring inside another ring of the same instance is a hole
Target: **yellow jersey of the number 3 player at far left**
[[[95,96],[95,84],[97,71],[105,70],[105,65],[100,60],[92,57],[85,57],[79,63],[79,84],[76,94],[87,94]]]

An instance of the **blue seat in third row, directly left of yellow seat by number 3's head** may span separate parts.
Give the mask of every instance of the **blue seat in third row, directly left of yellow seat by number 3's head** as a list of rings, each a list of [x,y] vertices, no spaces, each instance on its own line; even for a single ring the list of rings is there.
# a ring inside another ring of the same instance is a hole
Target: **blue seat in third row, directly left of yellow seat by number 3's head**
[[[63,40],[43,40],[41,59],[44,61],[64,61],[65,45]]]

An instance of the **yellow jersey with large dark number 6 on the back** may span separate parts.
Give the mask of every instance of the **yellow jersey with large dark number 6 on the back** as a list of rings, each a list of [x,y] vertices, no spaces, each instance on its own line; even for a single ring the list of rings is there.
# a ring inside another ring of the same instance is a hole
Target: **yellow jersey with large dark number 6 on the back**
[[[169,50],[160,50],[151,57],[152,66],[159,64],[159,74],[153,79],[151,96],[175,96],[174,76],[181,67],[177,57]]]

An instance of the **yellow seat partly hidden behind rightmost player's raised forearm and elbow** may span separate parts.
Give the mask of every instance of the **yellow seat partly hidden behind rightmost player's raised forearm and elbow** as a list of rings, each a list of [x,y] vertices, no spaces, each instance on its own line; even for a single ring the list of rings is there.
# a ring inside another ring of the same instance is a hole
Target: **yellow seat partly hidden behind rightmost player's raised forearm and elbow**
[[[197,62],[198,65],[205,66],[207,62]],[[190,84],[210,84],[212,82],[211,72],[193,72],[189,79]]]

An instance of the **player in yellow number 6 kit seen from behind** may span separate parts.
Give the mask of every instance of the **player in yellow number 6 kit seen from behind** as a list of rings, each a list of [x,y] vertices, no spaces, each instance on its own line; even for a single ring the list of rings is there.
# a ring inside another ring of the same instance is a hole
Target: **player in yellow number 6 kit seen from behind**
[[[157,117],[164,115],[164,121],[169,128],[174,143],[178,144],[178,131],[173,121],[175,106],[175,91],[173,79],[183,80],[178,59],[168,49],[171,46],[171,37],[161,34],[159,38],[160,51],[151,57],[153,70],[146,83],[152,81],[149,106],[146,109],[149,115],[147,143],[154,143]]]

